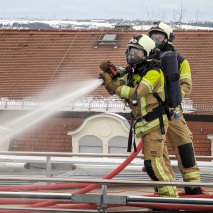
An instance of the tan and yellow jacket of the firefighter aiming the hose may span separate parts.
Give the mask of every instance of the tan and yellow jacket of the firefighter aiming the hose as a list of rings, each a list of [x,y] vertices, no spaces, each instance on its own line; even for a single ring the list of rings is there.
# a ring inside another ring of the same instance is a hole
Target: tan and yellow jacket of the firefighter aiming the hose
[[[128,74],[127,74],[128,75]],[[162,70],[152,68],[149,70],[141,79],[139,74],[135,74],[133,76],[134,79],[134,87],[129,87],[126,85],[127,75],[123,78],[118,78],[116,85],[125,85],[119,86],[116,89],[116,94],[125,99],[129,104],[129,107],[132,109],[132,113],[136,118],[142,118],[147,115],[147,113],[152,112],[152,110],[159,106],[157,99],[153,96],[153,92],[158,93],[161,99],[165,100],[164,93],[164,75]],[[138,105],[134,106],[131,101],[133,99],[133,94],[135,93],[137,84],[137,100]],[[166,119],[166,115],[163,115],[163,119]],[[152,121],[145,121],[141,119],[141,121],[136,123],[135,133],[137,136],[141,136],[144,133],[147,133],[152,128],[159,125],[159,118],[156,118]]]

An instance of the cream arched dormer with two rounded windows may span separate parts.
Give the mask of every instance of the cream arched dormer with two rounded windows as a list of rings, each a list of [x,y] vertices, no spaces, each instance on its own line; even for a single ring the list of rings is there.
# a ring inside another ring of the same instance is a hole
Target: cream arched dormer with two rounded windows
[[[130,124],[115,113],[100,113],[85,119],[74,131],[72,150],[74,153],[126,153]],[[137,140],[139,142],[139,139]]]

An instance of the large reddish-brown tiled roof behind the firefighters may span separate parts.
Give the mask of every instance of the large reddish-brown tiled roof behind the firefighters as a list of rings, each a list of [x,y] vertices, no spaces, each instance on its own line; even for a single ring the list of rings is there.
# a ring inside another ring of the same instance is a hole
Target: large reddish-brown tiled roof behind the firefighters
[[[0,34],[0,96],[8,99],[37,98],[48,89],[83,79],[98,78],[102,60],[125,66],[125,50],[134,30],[2,30]],[[99,45],[105,34],[116,35],[113,45]],[[175,31],[175,48],[190,63],[193,104],[213,100],[213,31]],[[91,95],[108,96],[102,87]],[[210,106],[211,108],[211,106]],[[212,109],[210,109],[210,112]]]

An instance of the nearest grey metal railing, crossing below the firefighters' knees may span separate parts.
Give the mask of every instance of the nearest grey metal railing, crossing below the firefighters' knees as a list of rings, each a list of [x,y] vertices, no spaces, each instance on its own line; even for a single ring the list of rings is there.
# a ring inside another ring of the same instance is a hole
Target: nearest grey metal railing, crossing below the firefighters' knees
[[[208,199],[208,197],[202,199],[198,198],[170,198],[170,197],[152,197],[152,196],[132,196],[132,195],[122,195],[122,194],[107,194],[107,185],[108,184],[121,184],[121,185],[135,185],[135,186],[210,186],[213,187],[213,183],[195,183],[195,182],[164,182],[164,181],[127,181],[127,180],[108,180],[108,179],[70,179],[70,178],[32,178],[32,177],[11,177],[11,176],[0,176],[0,180],[19,180],[19,181],[45,181],[45,182],[73,182],[73,183],[88,183],[88,184],[97,184],[102,186],[102,190],[98,194],[77,194],[77,193],[46,193],[46,192],[5,192],[0,191],[1,198],[24,198],[24,199],[47,199],[54,201],[67,200],[71,203],[89,203],[89,204],[97,204],[97,209],[95,210],[78,210],[69,209],[69,212],[98,212],[98,213],[107,213],[107,205],[115,204],[117,206],[125,206],[128,203],[140,203],[140,204],[164,204],[164,205],[191,205],[192,207],[196,205],[196,210],[202,208],[203,205],[207,208],[213,209],[212,199]],[[150,205],[151,206],[151,205]],[[188,206],[189,207],[189,206]],[[171,206],[172,208],[172,206]],[[0,206],[0,209],[7,210],[33,210],[36,212],[46,212],[51,211],[51,208],[29,208],[23,206]],[[63,205],[58,206],[57,211],[63,212],[66,210],[63,208]],[[53,211],[54,212],[54,209]],[[111,212],[111,211],[110,211]],[[128,210],[123,210],[122,212],[129,212]],[[131,212],[134,212],[132,210]],[[201,211],[199,211],[201,212]]]

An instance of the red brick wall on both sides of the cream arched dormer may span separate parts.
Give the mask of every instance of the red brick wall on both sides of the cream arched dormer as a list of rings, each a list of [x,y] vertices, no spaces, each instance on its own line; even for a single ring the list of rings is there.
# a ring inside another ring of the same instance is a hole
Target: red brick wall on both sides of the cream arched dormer
[[[84,121],[88,113],[63,114],[45,120],[42,124],[31,127],[25,133],[14,136],[11,139],[10,150],[13,151],[47,151],[47,152],[70,152],[71,137],[68,131],[75,130]],[[61,117],[60,117],[61,116]],[[129,115],[126,116],[129,119]],[[187,120],[187,119],[186,119]],[[212,122],[187,121],[194,137],[196,155],[211,155],[211,143],[207,139],[208,134],[213,134]],[[167,141],[170,154],[174,154]]]

